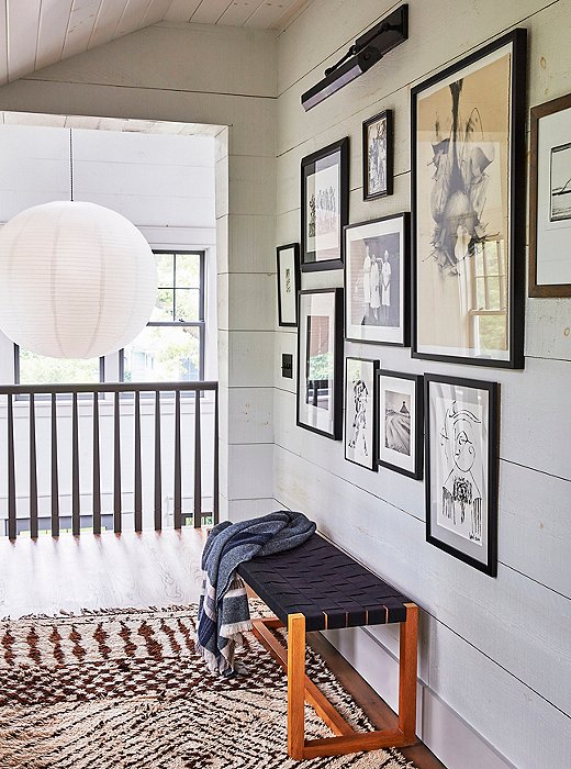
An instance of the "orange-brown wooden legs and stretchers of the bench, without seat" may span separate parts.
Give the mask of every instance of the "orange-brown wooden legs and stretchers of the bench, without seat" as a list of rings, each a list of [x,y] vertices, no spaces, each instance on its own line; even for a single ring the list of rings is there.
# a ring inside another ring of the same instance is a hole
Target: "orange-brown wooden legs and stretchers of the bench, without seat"
[[[343,715],[305,675],[305,617],[288,615],[288,649],[271,629],[283,627],[277,617],[253,621],[254,635],[288,675],[288,755],[296,760],[320,756],[340,756],[360,750],[405,747],[416,742],[416,665],[418,606],[405,603],[406,620],[400,628],[399,715],[395,728],[379,732],[355,732]],[[304,702],[336,735],[323,739],[305,739]]]

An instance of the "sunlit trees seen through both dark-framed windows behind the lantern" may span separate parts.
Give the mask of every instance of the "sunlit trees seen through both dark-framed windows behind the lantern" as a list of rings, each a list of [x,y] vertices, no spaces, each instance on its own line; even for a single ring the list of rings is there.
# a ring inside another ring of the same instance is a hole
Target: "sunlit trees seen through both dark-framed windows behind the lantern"
[[[204,253],[156,252],[158,292],[148,324],[120,353],[124,381],[193,381],[203,377]],[[18,350],[22,384],[100,381],[100,361],[47,358]]]

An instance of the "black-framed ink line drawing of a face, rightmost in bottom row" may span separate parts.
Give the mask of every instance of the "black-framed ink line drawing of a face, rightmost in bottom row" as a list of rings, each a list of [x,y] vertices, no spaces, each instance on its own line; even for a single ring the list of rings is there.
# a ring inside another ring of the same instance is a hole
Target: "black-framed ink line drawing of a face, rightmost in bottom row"
[[[497,572],[499,384],[427,374],[426,539]]]

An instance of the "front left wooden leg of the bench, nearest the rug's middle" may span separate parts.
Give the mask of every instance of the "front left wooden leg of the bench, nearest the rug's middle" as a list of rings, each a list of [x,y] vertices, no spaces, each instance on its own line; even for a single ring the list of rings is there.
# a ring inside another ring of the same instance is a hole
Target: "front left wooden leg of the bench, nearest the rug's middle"
[[[305,617],[288,616],[288,754],[301,760],[305,745]]]

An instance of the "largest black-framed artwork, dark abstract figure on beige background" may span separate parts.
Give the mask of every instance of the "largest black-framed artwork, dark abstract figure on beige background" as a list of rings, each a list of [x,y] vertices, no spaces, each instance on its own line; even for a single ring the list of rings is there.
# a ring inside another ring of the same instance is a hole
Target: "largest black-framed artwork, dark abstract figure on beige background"
[[[526,30],[412,89],[413,357],[524,367]]]

